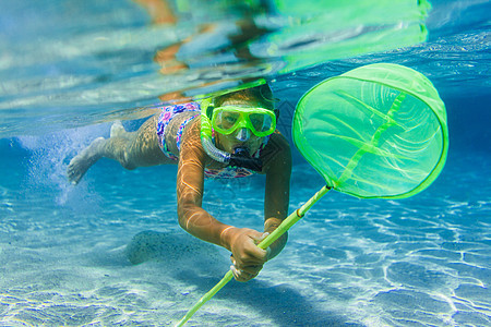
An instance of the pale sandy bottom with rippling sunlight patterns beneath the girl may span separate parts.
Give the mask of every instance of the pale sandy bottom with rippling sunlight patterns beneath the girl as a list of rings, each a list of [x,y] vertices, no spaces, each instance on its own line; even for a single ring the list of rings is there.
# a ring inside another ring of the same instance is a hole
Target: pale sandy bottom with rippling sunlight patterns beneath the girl
[[[488,325],[488,162],[454,154],[434,185],[405,201],[331,193],[255,280],[229,283],[189,325]],[[173,167],[124,171],[101,161],[77,187],[2,177],[0,326],[179,320],[230,264],[227,251],[178,228],[172,174]],[[207,182],[204,206],[260,229],[261,183]],[[321,185],[312,169],[295,167],[291,209]],[[127,245],[145,230],[154,238],[132,265]]]

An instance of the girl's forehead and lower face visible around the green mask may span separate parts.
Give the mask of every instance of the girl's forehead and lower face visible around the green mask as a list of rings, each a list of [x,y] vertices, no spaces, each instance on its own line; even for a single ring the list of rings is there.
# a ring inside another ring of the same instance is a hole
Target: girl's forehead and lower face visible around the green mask
[[[232,99],[232,98],[227,99],[221,104],[221,106],[230,106],[230,105],[261,107],[260,104],[254,101],[247,101],[242,99]],[[239,133],[242,134],[239,135]],[[243,137],[244,134],[248,134],[249,137]],[[229,154],[233,154],[238,147],[244,147],[249,150],[249,154],[252,156],[261,147],[264,137],[255,136],[251,131],[241,131],[240,129],[238,129],[237,131],[228,135],[216,133],[215,138],[217,141],[217,146]]]

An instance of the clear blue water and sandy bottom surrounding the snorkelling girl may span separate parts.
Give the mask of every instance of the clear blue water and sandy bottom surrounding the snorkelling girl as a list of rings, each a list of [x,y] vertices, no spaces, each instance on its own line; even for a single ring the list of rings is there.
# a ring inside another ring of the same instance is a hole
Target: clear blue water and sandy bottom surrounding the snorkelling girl
[[[255,280],[228,284],[190,325],[491,324],[489,3],[433,4],[429,44],[325,63],[272,85],[288,134],[288,109],[316,82],[376,61],[418,69],[447,109],[451,147],[440,178],[403,201],[330,194]],[[100,24],[108,23],[95,21],[94,31]],[[46,33],[55,33],[52,25]],[[221,278],[226,251],[177,226],[176,167],[125,171],[100,160],[73,187],[64,178],[68,161],[94,137],[107,137],[110,124],[31,135],[36,126],[23,121],[25,135],[0,140],[0,326],[171,325]],[[124,122],[130,130],[140,123]],[[204,206],[228,223],[261,229],[263,183],[209,181]],[[296,154],[290,208],[322,184]],[[152,261],[132,266],[124,246],[143,230],[165,238]]]

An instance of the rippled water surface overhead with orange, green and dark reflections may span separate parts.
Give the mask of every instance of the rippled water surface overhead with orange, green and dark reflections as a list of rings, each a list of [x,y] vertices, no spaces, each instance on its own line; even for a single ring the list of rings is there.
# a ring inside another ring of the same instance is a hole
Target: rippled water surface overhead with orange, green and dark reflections
[[[418,4],[419,2],[419,4]],[[0,135],[153,113],[427,37],[426,1],[23,1],[0,16]],[[16,19],[19,17],[19,20]]]

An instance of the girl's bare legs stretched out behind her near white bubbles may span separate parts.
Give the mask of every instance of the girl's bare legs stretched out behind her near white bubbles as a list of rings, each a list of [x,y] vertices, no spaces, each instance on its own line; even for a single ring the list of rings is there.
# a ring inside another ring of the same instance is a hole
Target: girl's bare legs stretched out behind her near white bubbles
[[[153,116],[136,132],[127,132],[120,122],[111,128],[110,137],[98,137],[75,156],[68,167],[71,183],[79,183],[88,168],[100,158],[117,160],[127,169],[164,164],[175,164],[167,158],[158,146],[156,122],[158,114]]]

